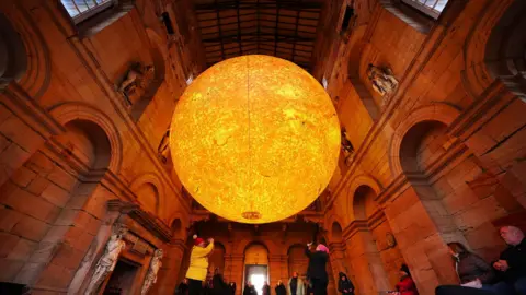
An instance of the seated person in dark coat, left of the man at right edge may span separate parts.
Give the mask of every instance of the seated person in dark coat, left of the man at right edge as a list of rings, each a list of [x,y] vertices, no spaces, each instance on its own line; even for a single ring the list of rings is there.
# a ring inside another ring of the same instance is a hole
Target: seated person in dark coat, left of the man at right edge
[[[495,273],[482,258],[468,251],[460,243],[449,243],[447,247],[455,260],[455,269],[460,284],[482,286],[493,282]]]

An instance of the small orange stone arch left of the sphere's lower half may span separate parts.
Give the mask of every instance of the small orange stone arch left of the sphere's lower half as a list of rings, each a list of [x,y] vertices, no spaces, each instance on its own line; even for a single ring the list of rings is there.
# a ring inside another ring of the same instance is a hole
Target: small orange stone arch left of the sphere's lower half
[[[165,215],[165,212],[162,211],[162,209],[165,208],[164,186],[162,186],[158,175],[149,173],[137,177],[134,181],[132,181],[130,189],[139,201],[148,201],[144,198],[147,196],[153,197],[153,200],[149,200],[150,202],[153,201],[155,204],[153,206],[149,206],[150,211],[161,216]],[[140,196],[140,193],[146,194]]]

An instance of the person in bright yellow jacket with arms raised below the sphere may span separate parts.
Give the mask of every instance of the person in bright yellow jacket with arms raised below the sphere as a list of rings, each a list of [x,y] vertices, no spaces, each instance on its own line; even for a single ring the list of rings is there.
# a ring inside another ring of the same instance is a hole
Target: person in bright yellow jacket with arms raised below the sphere
[[[203,281],[208,272],[208,256],[214,250],[214,239],[208,239],[208,245],[197,235],[193,236],[194,247],[190,255],[190,267],[186,272],[188,279],[188,295],[202,295]]]

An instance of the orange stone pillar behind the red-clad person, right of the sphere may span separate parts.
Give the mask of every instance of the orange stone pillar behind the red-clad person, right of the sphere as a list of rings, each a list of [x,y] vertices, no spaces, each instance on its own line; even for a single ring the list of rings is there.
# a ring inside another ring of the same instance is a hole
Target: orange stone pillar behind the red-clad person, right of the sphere
[[[354,221],[345,228],[344,240],[352,269],[347,275],[353,280],[358,293],[376,295],[381,291],[390,290],[380,255],[367,223]]]

